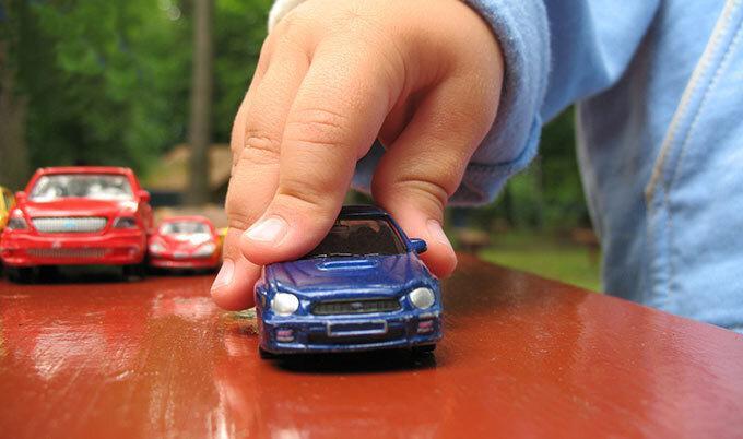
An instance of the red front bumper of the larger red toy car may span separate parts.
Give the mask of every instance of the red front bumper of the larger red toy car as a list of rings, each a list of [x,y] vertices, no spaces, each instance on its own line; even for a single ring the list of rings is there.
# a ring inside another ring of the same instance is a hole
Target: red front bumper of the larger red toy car
[[[105,235],[70,236],[8,234],[2,236],[0,256],[12,266],[126,265],[144,259],[146,238],[139,230]]]

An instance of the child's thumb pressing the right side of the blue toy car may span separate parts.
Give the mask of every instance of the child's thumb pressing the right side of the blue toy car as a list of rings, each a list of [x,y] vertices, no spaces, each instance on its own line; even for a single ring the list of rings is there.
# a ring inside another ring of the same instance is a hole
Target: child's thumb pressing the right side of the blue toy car
[[[495,108],[482,110],[487,106],[476,102],[483,96],[468,98],[472,94],[468,81],[458,79],[433,90],[382,156],[371,182],[375,201],[409,236],[427,242],[422,259],[440,277],[457,265],[443,228],[444,209],[495,118]]]

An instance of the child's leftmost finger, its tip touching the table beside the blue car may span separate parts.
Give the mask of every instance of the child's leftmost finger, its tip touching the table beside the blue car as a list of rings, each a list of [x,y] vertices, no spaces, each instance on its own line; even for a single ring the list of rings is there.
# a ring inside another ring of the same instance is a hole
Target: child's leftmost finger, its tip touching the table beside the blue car
[[[261,268],[243,256],[239,240],[276,190],[282,131],[307,67],[306,55],[295,47],[274,51],[236,117],[226,200],[229,229],[223,266],[212,286],[212,297],[222,308],[245,309],[255,305],[253,286]]]

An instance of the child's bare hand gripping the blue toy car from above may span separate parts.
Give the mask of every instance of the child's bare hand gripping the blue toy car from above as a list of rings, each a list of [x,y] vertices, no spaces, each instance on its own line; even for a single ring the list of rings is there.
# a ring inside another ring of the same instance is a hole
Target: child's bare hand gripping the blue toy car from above
[[[309,0],[290,12],[235,119],[216,302],[252,306],[260,265],[319,244],[377,138],[388,151],[375,201],[449,275],[444,207],[493,123],[502,79],[495,37],[459,0]]]

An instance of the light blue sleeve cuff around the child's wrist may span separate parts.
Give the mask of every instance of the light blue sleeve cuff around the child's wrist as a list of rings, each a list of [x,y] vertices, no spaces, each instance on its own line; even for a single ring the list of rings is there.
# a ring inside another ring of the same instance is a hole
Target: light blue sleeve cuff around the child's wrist
[[[498,115],[475,151],[452,204],[492,201],[509,177],[536,155],[542,130],[540,110],[550,72],[549,24],[538,0],[467,0],[491,25],[504,55],[506,72]]]

